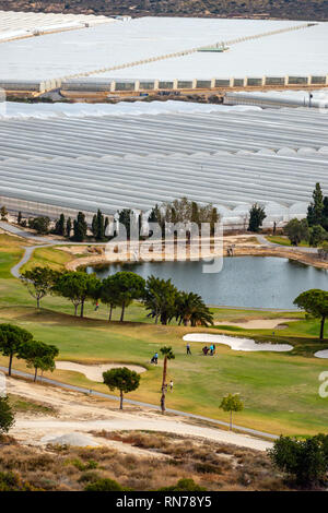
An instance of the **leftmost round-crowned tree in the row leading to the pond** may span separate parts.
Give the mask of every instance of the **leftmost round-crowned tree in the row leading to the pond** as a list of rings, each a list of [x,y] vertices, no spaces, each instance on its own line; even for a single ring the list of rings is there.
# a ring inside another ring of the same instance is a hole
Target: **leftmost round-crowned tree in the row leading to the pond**
[[[36,299],[36,308],[39,309],[40,300],[51,291],[59,276],[59,272],[40,266],[35,266],[22,273],[21,281],[27,287],[31,296]]]

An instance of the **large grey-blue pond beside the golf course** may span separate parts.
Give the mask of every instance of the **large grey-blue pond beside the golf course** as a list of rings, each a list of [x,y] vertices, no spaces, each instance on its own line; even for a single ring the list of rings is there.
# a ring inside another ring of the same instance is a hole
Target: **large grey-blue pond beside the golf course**
[[[199,294],[207,305],[238,308],[295,309],[293,300],[309,288],[328,290],[328,271],[274,256],[223,259],[220,273],[202,273],[199,262],[143,262],[87,267],[104,278],[118,271],[132,271],[147,278],[151,274],[172,278],[181,290]]]

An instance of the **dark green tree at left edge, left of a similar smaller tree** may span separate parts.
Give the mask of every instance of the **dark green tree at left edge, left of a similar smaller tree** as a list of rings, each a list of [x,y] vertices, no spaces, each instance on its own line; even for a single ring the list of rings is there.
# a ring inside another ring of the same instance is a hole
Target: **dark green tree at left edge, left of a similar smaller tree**
[[[0,351],[9,356],[8,374],[11,375],[14,356],[20,358],[22,346],[33,339],[32,333],[12,324],[0,324]]]

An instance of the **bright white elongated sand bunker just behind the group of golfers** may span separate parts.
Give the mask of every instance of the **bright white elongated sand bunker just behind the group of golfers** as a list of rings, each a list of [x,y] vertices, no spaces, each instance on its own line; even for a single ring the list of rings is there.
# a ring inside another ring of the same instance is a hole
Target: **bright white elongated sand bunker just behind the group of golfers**
[[[212,333],[189,333],[184,336],[184,341],[188,342],[202,342],[207,344],[225,344],[230,346],[233,350],[243,350],[243,351],[259,351],[259,350],[270,350],[277,353],[284,353],[293,349],[293,346],[290,344],[257,344],[251,338],[239,338],[234,336],[226,335],[213,335]]]

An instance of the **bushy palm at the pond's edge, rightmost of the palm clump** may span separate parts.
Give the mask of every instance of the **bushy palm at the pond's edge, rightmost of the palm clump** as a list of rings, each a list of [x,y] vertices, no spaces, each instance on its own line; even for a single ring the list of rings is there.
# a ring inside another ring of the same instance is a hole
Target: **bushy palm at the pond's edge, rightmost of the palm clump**
[[[180,293],[177,297],[176,319],[185,326],[190,322],[191,326],[213,324],[213,315],[204,305],[202,298],[195,293]]]

